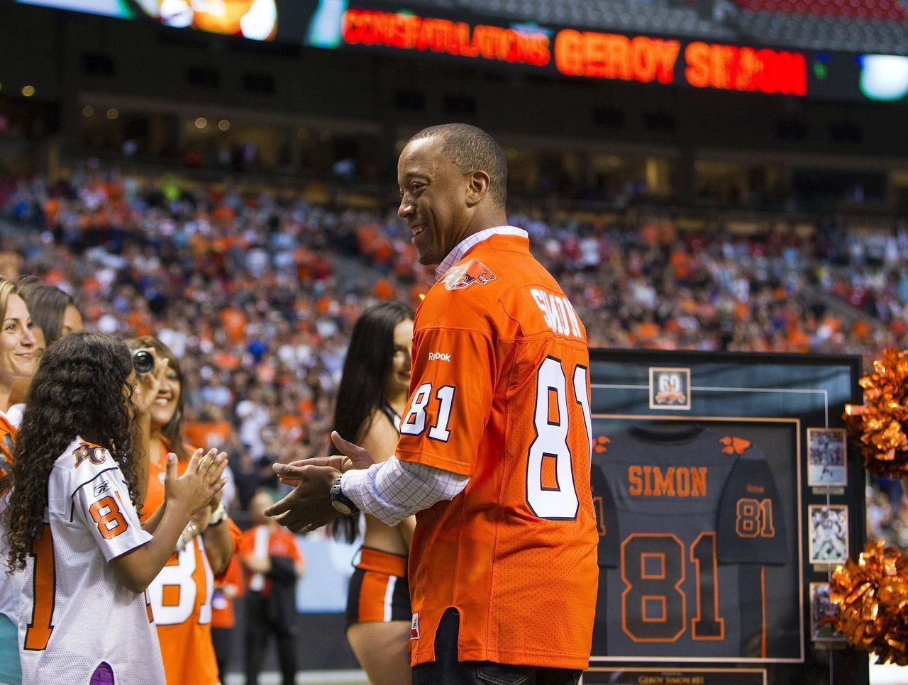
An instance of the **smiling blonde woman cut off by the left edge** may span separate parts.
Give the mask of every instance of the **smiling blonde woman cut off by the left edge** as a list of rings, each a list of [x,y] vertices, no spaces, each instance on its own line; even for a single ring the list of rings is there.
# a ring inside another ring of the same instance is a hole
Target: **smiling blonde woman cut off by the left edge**
[[[0,409],[9,404],[13,386],[32,377],[37,366],[37,341],[25,300],[15,284],[0,277]],[[15,425],[0,411],[0,514],[13,485]],[[5,519],[0,517],[0,556],[6,555]],[[18,685],[19,646],[16,636],[21,573],[0,570],[0,682]]]

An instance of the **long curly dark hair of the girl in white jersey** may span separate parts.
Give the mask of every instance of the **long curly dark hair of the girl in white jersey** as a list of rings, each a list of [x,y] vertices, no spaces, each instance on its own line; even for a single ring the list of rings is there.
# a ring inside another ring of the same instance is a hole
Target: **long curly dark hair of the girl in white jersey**
[[[4,514],[10,570],[24,568],[32,553],[44,522],[51,470],[76,435],[110,451],[136,504],[132,388],[127,386],[132,370],[129,349],[111,336],[73,333],[47,346],[13,448],[15,487]]]

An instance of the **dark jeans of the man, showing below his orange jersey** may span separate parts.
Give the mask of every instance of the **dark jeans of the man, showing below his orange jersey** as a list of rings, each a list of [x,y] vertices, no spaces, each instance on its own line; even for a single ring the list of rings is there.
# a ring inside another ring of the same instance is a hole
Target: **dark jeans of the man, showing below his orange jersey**
[[[449,609],[435,633],[435,661],[413,667],[413,685],[577,685],[582,671],[458,661],[460,614]]]

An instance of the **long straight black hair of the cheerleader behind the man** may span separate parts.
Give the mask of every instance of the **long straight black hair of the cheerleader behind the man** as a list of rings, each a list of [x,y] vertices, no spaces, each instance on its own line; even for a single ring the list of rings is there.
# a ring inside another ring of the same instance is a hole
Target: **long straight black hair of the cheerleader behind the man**
[[[331,421],[331,430],[341,437],[359,442],[369,431],[375,410],[388,404],[385,381],[394,364],[394,328],[409,318],[413,310],[407,305],[383,302],[356,320]],[[348,543],[360,532],[358,516],[339,516],[329,525],[334,537]]]

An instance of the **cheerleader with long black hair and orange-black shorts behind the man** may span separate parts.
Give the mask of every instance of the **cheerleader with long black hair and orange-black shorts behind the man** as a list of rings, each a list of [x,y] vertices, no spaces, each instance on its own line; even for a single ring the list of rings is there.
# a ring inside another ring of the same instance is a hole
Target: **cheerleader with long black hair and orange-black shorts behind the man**
[[[366,309],[357,319],[344,360],[331,426],[383,461],[394,454],[400,414],[410,392],[413,311],[399,302]],[[391,528],[370,515],[360,561],[347,595],[347,640],[373,685],[410,682],[410,590],[407,557],[415,520]],[[353,542],[359,517],[331,524]]]

